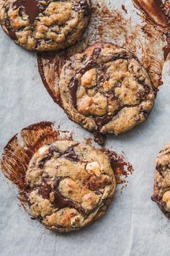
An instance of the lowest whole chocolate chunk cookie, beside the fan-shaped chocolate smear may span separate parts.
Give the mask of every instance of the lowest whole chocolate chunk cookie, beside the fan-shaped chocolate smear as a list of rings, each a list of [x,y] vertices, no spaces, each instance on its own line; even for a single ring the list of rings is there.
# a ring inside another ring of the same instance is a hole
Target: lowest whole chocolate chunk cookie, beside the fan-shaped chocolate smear
[[[81,229],[101,217],[115,194],[109,157],[83,142],[56,141],[32,156],[25,183],[34,218],[53,231]]]

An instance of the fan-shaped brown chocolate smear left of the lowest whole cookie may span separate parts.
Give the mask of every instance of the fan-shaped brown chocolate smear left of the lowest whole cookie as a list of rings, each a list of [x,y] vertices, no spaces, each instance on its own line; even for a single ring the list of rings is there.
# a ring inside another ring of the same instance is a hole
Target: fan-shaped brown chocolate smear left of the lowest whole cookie
[[[27,202],[29,190],[24,179],[30,159],[39,148],[55,140],[72,140],[72,137],[67,135],[61,137],[61,131],[54,128],[53,122],[42,121],[22,129],[20,134],[14,135],[4,147],[1,155],[1,170],[18,187],[19,200],[23,206]],[[71,157],[71,153],[66,152],[68,157]]]

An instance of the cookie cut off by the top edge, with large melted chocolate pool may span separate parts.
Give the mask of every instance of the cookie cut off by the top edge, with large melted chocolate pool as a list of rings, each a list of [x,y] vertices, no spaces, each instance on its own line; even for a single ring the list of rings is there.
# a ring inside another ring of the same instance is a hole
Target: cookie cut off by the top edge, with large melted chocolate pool
[[[0,0],[1,26],[27,50],[71,46],[88,25],[90,0]]]

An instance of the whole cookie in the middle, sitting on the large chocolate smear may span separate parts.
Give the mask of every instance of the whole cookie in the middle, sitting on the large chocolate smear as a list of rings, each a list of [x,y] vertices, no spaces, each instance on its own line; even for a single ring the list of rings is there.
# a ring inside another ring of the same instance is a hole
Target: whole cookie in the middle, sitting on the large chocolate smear
[[[97,43],[72,56],[59,82],[63,108],[89,131],[120,135],[153,108],[151,80],[124,48]]]

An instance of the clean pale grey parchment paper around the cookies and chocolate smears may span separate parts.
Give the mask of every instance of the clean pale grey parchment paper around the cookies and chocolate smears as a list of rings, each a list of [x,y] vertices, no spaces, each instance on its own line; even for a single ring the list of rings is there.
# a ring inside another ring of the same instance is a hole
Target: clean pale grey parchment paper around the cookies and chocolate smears
[[[126,5],[125,2],[122,1]],[[17,205],[17,189],[0,173],[0,255],[170,255],[170,221],[151,201],[155,158],[170,127],[169,61],[148,121],[120,137],[109,136],[107,148],[122,151],[135,169],[104,218],[78,232],[54,234],[32,221]],[[16,46],[0,30],[0,150],[20,129],[37,121],[56,121],[74,131],[76,140],[92,137],[53,103],[37,72],[36,54]]]

